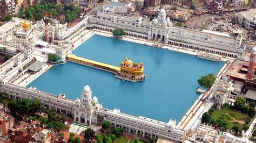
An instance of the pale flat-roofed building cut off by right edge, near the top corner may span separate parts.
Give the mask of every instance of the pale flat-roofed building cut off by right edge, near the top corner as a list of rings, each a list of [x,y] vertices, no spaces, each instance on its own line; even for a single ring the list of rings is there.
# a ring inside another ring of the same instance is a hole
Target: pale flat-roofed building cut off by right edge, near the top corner
[[[256,30],[256,9],[250,9],[249,11],[242,11],[235,14],[238,23],[248,30]]]

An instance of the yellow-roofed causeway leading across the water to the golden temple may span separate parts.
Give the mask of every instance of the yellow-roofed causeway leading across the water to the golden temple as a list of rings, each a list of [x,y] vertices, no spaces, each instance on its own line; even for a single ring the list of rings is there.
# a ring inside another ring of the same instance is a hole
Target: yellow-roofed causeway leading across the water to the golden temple
[[[106,63],[81,58],[81,57],[73,55],[73,54],[66,56],[66,59],[70,62],[79,63],[81,65],[89,66],[92,68],[97,68],[100,70],[105,70],[110,73],[117,73],[118,71],[120,71],[120,67],[116,67],[116,66],[108,65]]]

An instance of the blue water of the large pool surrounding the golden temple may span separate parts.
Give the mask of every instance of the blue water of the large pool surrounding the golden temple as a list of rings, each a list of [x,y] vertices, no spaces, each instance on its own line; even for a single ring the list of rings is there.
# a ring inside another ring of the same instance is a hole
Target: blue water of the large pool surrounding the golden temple
[[[224,65],[99,35],[85,41],[73,54],[114,66],[119,66],[126,56],[134,62],[143,61],[146,80],[122,81],[112,73],[66,62],[46,71],[28,87],[56,95],[62,92],[76,99],[88,83],[105,108],[118,108],[124,113],[161,121],[180,120],[199,96],[198,78],[215,74]]]

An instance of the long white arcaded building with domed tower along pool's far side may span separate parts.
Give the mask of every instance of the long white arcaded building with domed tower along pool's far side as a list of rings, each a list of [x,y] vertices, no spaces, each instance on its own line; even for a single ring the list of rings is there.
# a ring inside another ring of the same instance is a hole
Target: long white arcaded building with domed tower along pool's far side
[[[89,25],[106,31],[123,28],[129,36],[220,55],[237,57],[244,51],[241,48],[241,35],[232,38],[229,35],[218,32],[202,32],[172,26],[170,18],[166,18],[164,9],[161,9],[158,18],[153,19],[151,22],[144,21],[142,17],[130,18],[97,12],[96,16],[89,17]]]

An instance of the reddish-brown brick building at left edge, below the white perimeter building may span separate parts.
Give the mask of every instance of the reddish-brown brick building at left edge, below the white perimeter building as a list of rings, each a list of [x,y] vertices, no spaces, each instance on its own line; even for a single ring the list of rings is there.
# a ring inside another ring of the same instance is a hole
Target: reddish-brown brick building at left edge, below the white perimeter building
[[[14,124],[14,117],[5,113],[4,105],[0,103],[0,137],[6,137],[9,128],[12,128]]]

